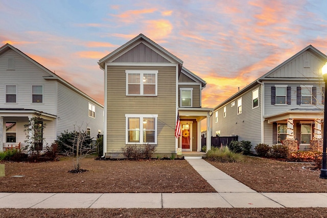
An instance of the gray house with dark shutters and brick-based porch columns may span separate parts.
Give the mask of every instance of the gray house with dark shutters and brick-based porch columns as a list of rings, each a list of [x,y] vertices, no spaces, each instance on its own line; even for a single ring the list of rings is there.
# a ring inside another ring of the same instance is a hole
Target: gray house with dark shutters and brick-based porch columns
[[[212,135],[238,135],[251,141],[252,149],[259,143],[297,139],[299,149],[306,150],[310,140],[321,139],[321,67],[326,60],[309,45],[230,96],[214,109]]]

